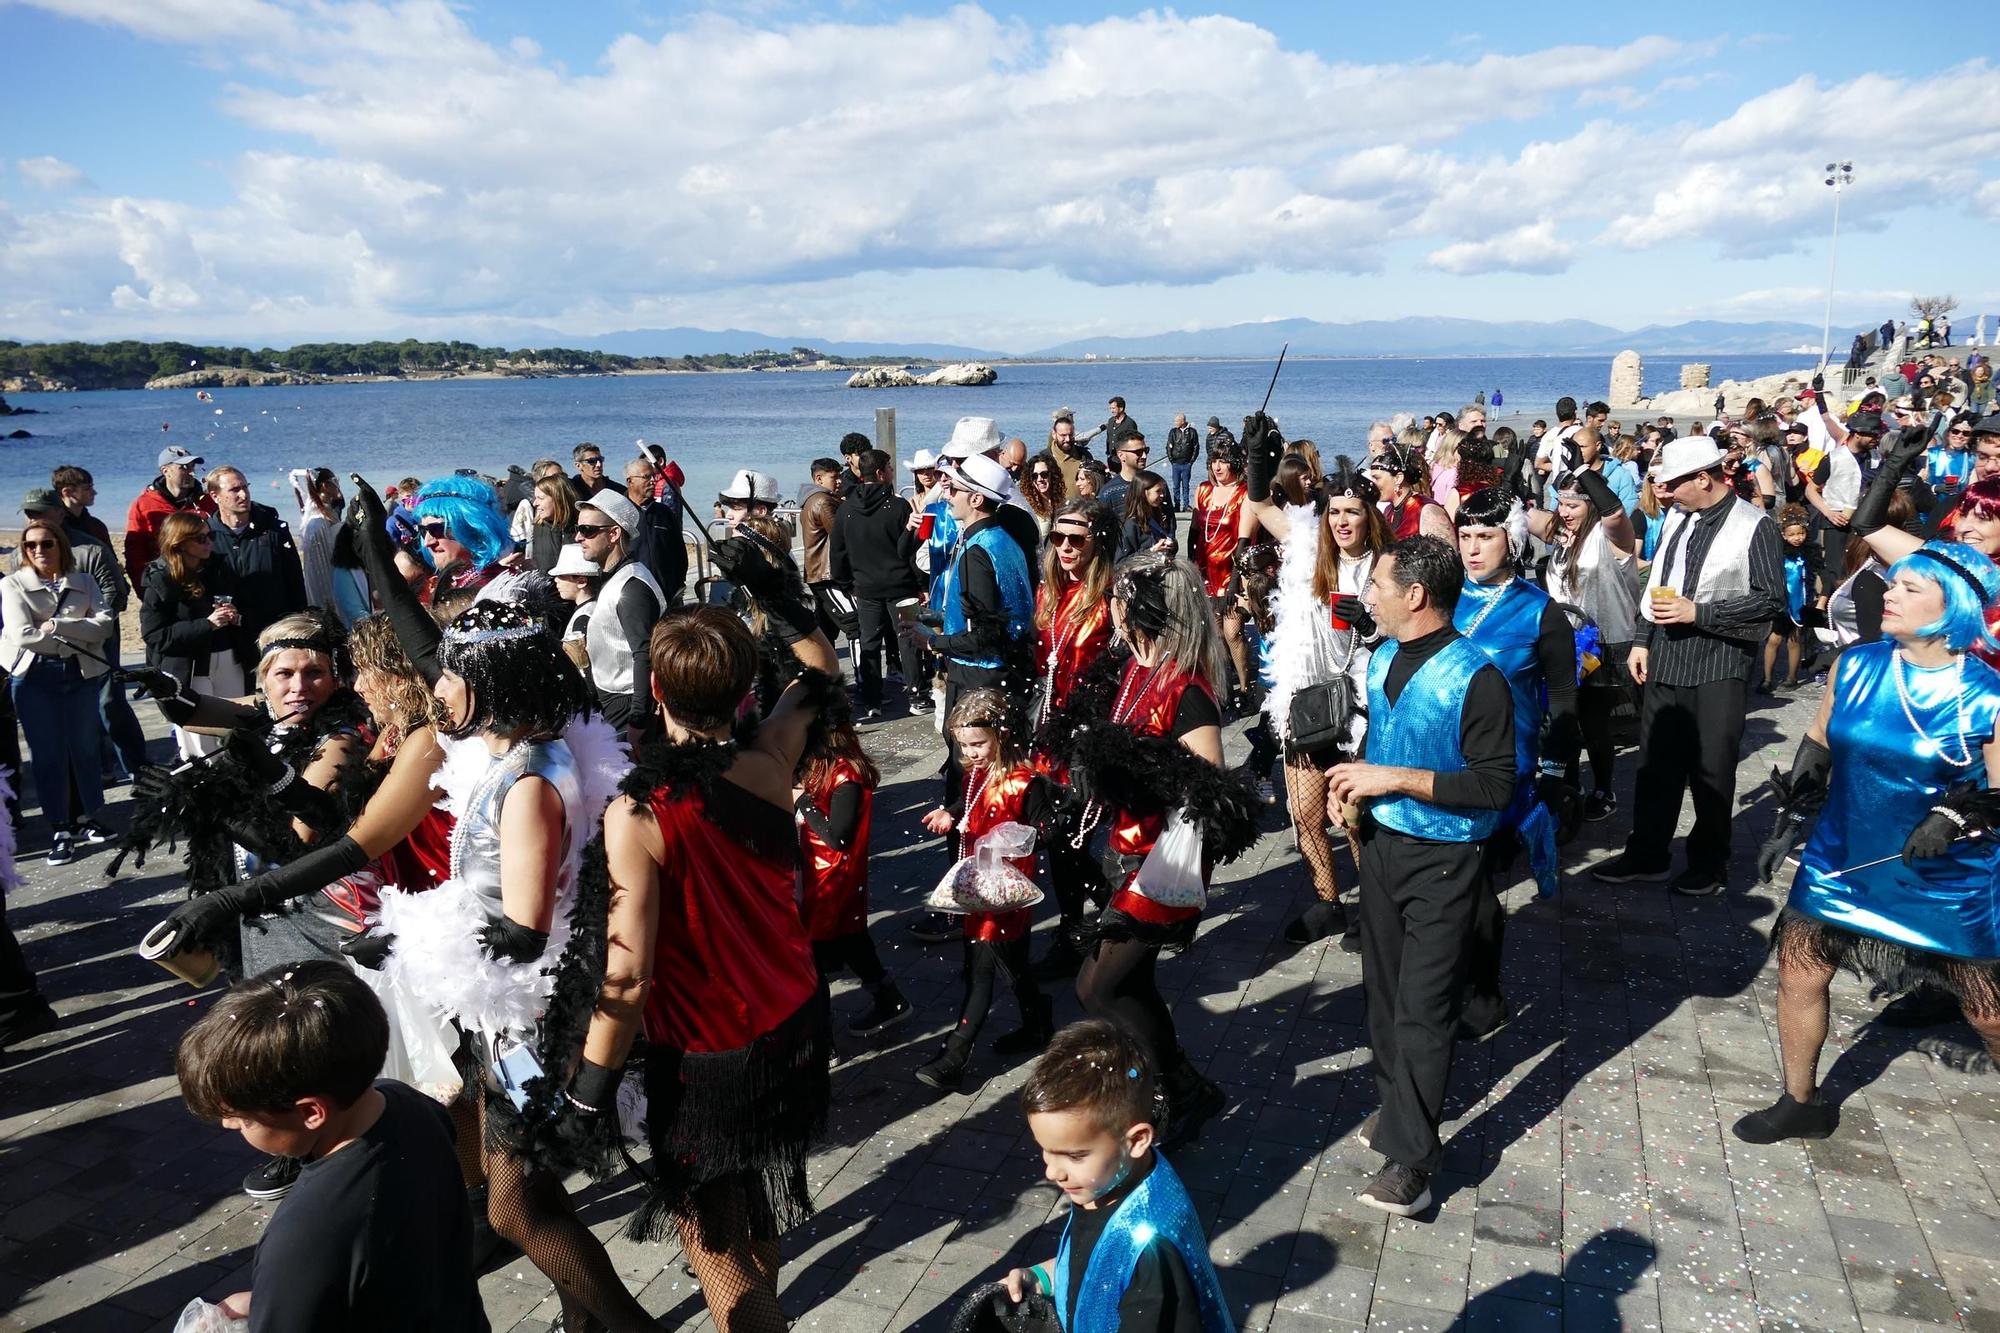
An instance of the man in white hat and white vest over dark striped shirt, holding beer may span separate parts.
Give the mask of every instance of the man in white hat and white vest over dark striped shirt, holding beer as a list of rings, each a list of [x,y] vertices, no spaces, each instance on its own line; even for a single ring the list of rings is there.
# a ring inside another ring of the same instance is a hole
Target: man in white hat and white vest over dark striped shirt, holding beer
[[[1646,691],[1632,837],[1594,871],[1612,885],[1668,879],[1680,797],[1692,791],[1688,869],[1674,879],[1674,893],[1724,889],[1750,664],[1786,604],[1778,530],[1762,508],[1736,496],[1722,474],[1724,456],[1706,434],[1660,450],[1674,510],[1662,518],[1628,662]]]

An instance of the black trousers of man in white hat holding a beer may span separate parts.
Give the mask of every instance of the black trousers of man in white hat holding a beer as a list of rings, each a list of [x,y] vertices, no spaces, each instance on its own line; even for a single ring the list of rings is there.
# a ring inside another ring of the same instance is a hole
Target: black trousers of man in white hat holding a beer
[[[1672,861],[1680,797],[1694,797],[1688,869],[1722,877],[1730,863],[1736,759],[1744,743],[1742,681],[1660,685],[1648,681],[1638,723],[1638,781],[1626,857],[1646,867]]]

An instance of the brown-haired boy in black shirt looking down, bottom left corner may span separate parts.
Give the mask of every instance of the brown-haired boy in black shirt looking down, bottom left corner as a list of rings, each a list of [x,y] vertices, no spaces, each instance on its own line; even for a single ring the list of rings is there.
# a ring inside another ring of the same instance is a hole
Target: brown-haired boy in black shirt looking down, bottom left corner
[[[306,1163],[256,1247],[250,1291],[224,1301],[250,1333],[488,1331],[452,1121],[374,1081],[386,1053],[380,1001],[324,961],[246,981],[180,1039],[188,1111]]]

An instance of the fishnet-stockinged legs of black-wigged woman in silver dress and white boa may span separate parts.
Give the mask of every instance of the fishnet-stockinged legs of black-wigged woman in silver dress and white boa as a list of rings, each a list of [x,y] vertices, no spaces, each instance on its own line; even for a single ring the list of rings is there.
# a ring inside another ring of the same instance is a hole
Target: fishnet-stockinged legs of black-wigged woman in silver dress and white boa
[[[458,1131],[458,1169],[466,1185],[486,1181],[492,1229],[556,1283],[564,1329],[654,1333],[660,1327],[626,1291],[598,1237],[576,1217],[562,1181],[486,1145],[482,1091],[472,1089],[470,1097],[452,1105],[452,1127]]]

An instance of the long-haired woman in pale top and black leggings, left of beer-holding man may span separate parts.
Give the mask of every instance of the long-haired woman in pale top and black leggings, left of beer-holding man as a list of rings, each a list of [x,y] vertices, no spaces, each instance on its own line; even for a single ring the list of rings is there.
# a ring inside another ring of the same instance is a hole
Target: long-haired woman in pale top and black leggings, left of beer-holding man
[[[1550,542],[1548,592],[1574,606],[1588,620],[1580,630],[1576,721],[1584,751],[1590,753],[1592,793],[1584,799],[1584,819],[1608,819],[1618,811],[1612,767],[1612,715],[1632,703],[1632,671],[1626,656],[1638,624],[1638,536],[1632,516],[1618,502],[1604,472],[1578,468],[1556,478],[1556,512],[1528,510],[1528,530]],[[1596,634],[1596,666],[1582,644]],[[1580,761],[1572,761],[1564,781],[1582,789]]]

